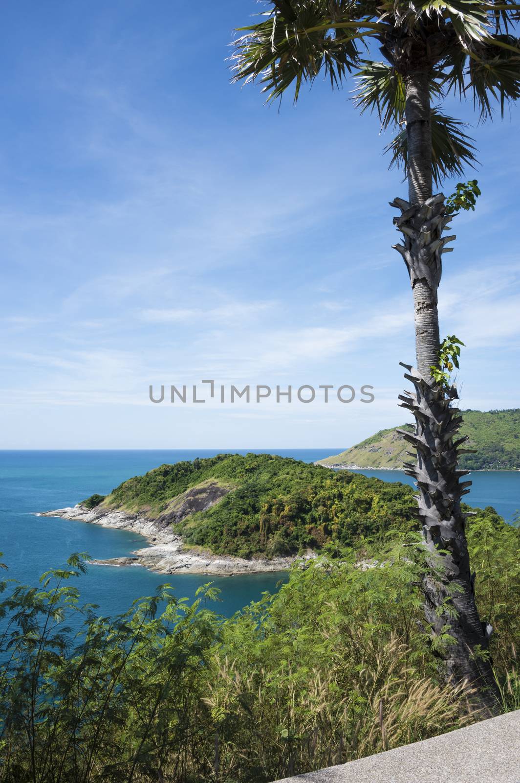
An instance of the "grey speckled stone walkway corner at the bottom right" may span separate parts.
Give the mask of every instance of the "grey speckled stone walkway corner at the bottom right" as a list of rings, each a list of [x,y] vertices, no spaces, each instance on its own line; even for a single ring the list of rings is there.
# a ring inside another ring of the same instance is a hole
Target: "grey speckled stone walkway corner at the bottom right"
[[[286,783],[520,783],[520,710]]]

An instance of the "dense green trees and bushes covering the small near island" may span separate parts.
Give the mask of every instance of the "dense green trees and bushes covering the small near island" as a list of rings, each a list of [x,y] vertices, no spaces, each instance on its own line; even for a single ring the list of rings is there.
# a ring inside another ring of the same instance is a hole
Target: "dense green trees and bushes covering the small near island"
[[[175,529],[187,545],[216,554],[298,554],[328,541],[343,547],[361,537],[382,541],[390,528],[407,531],[416,524],[414,493],[407,485],[269,454],[161,465],[114,489],[103,507],[160,515],[181,493],[210,478],[228,493],[206,511],[177,521]]]

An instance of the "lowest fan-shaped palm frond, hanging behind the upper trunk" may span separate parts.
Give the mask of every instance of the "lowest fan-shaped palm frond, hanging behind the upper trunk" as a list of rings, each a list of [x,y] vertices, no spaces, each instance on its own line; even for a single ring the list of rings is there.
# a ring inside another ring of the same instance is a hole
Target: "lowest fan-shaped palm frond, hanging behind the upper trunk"
[[[465,166],[475,168],[474,139],[468,136],[462,128],[465,123],[446,117],[438,109],[432,109],[430,124],[432,128],[432,176],[437,186],[443,179],[461,176]],[[407,131],[403,128],[396,138],[385,148],[392,153],[389,168],[398,166],[407,173],[408,141]]]

